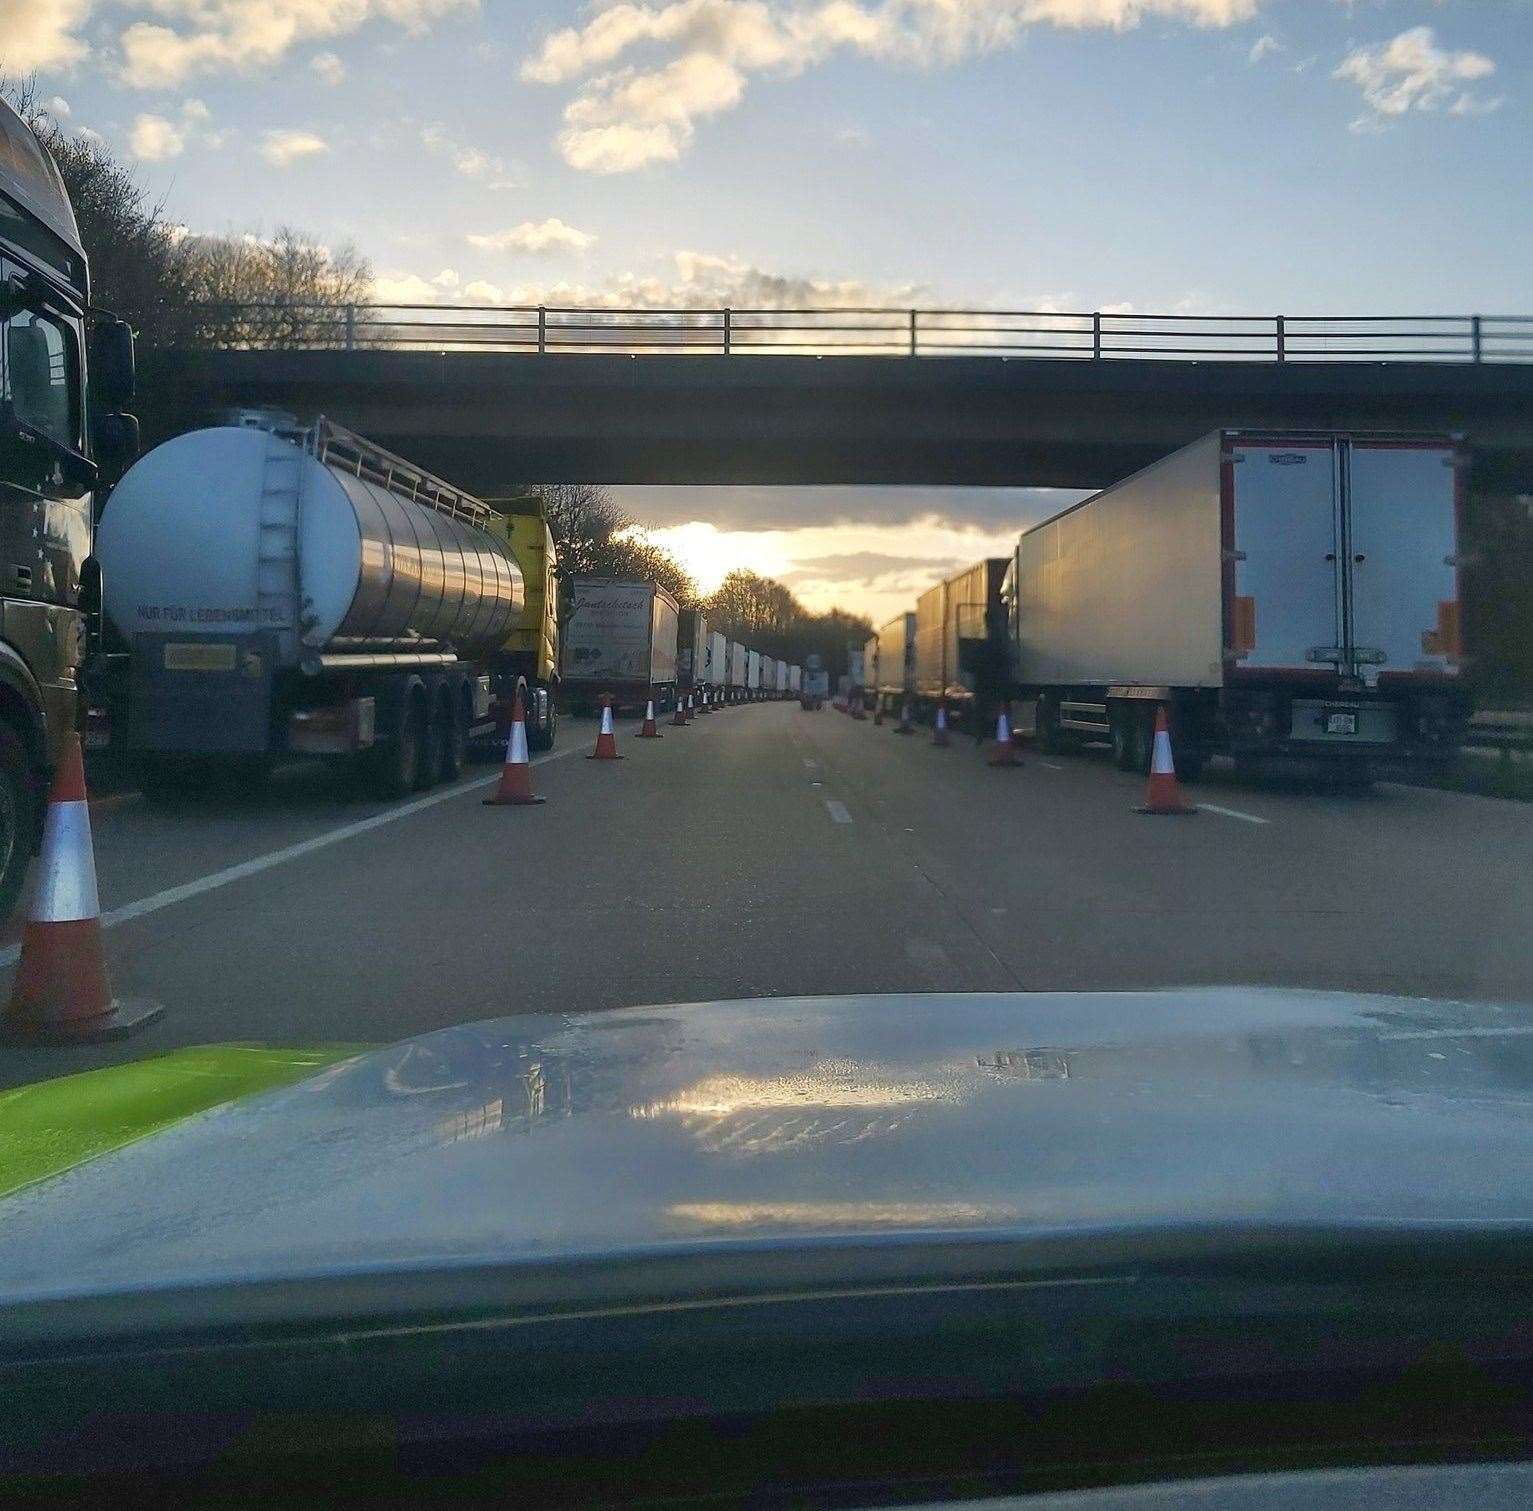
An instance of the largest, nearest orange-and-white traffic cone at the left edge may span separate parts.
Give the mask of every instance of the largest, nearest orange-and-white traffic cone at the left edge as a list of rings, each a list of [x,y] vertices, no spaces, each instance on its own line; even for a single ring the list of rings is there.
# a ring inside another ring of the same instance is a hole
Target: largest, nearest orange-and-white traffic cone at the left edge
[[[158,1002],[113,998],[106,979],[86,771],[80,737],[71,734],[48,794],[37,895],[21,933],[6,1034],[49,1044],[121,1039],[161,1013]]]

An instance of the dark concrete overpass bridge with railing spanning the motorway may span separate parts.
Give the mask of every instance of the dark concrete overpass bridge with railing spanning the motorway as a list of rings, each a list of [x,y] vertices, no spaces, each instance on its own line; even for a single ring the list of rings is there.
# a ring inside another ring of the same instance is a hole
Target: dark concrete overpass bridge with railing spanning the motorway
[[[143,359],[146,440],[327,414],[521,481],[1102,487],[1217,426],[1461,432],[1533,493],[1533,319],[222,306]]]

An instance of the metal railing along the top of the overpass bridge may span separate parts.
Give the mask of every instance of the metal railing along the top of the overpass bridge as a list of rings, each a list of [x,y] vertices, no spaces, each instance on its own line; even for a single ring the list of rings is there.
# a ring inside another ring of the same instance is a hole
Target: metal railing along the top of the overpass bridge
[[[235,349],[1533,362],[1533,316],[245,303],[138,319],[150,342]]]

